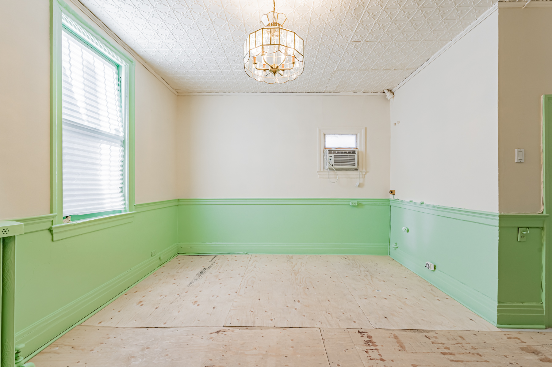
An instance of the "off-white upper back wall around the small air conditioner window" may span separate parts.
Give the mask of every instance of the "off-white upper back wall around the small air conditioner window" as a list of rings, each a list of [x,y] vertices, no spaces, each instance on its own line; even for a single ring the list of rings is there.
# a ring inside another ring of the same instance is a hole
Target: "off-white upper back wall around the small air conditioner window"
[[[374,95],[206,95],[178,98],[182,198],[387,198],[389,101]],[[317,175],[317,128],[364,126],[367,175]]]

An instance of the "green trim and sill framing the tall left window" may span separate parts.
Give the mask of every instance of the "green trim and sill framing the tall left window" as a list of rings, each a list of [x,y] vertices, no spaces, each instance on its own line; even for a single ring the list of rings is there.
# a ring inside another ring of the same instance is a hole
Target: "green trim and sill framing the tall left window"
[[[121,51],[115,42],[108,40],[102,33],[84,20],[71,6],[62,0],[50,2],[50,212],[53,225],[52,239],[59,240],[68,236],[88,233],[91,228],[108,228],[128,223],[134,216],[134,88],[135,61]],[[77,35],[82,41],[100,54],[106,55],[119,64],[121,70],[121,105],[125,119],[125,201],[126,208],[118,214],[91,213],[78,215],[77,222],[63,223],[63,187],[62,187],[62,48],[61,34],[63,23],[82,31],[88,36]],[[110,214],[110,215],[105,215]],[[129,215],[132,214],[132,215]],[[101,215],[101,216],[98,216]],[[94,217],[94,218],[90,218]],[[94,223],[98,223],[95,225]],[[67,226],[67,229],[62,229]],[[82,228],[79,230],[78,228]],[[65,233],[65,234],[64,234]],[[71,234],[71,235],[70,235]]]

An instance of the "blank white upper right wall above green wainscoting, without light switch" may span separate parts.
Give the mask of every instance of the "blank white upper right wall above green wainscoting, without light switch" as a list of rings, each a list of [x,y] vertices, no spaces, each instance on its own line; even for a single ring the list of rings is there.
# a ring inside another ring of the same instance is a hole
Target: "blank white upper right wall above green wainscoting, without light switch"
[[[495,10],[396,90],[396,198],[498,211],[497,84]]]

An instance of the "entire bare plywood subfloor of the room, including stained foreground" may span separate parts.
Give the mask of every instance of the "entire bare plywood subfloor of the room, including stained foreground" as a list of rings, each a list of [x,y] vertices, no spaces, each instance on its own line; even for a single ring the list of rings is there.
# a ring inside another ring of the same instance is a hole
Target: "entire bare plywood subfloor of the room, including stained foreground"
[[[32,361],[538,367],[552,333],[499,331],[386,256],[178,256]]]

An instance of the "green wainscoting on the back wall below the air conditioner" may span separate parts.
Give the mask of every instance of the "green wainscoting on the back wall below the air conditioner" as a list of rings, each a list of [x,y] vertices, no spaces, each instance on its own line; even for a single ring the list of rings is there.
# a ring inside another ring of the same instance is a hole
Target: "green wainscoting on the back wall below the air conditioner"
[[[178,240],[181,253],[388,255],[389,199],[180,199]]]

